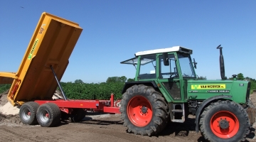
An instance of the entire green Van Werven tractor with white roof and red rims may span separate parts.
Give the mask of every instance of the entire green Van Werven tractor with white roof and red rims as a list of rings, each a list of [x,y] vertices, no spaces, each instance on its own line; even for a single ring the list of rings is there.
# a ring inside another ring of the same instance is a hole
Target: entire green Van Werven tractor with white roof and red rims
[[[156,135],[169,121],[183,123],[196,116],[196,132],[208,141],[245,141],[255,122],[250,102],[250,82],[225,80],[222,47],[222,80],[198,80],[193,51],[175,46],[135,53],[122,64],[136,68],[134,82],[127,82],[120,102],[121,118],[129,133]]]

